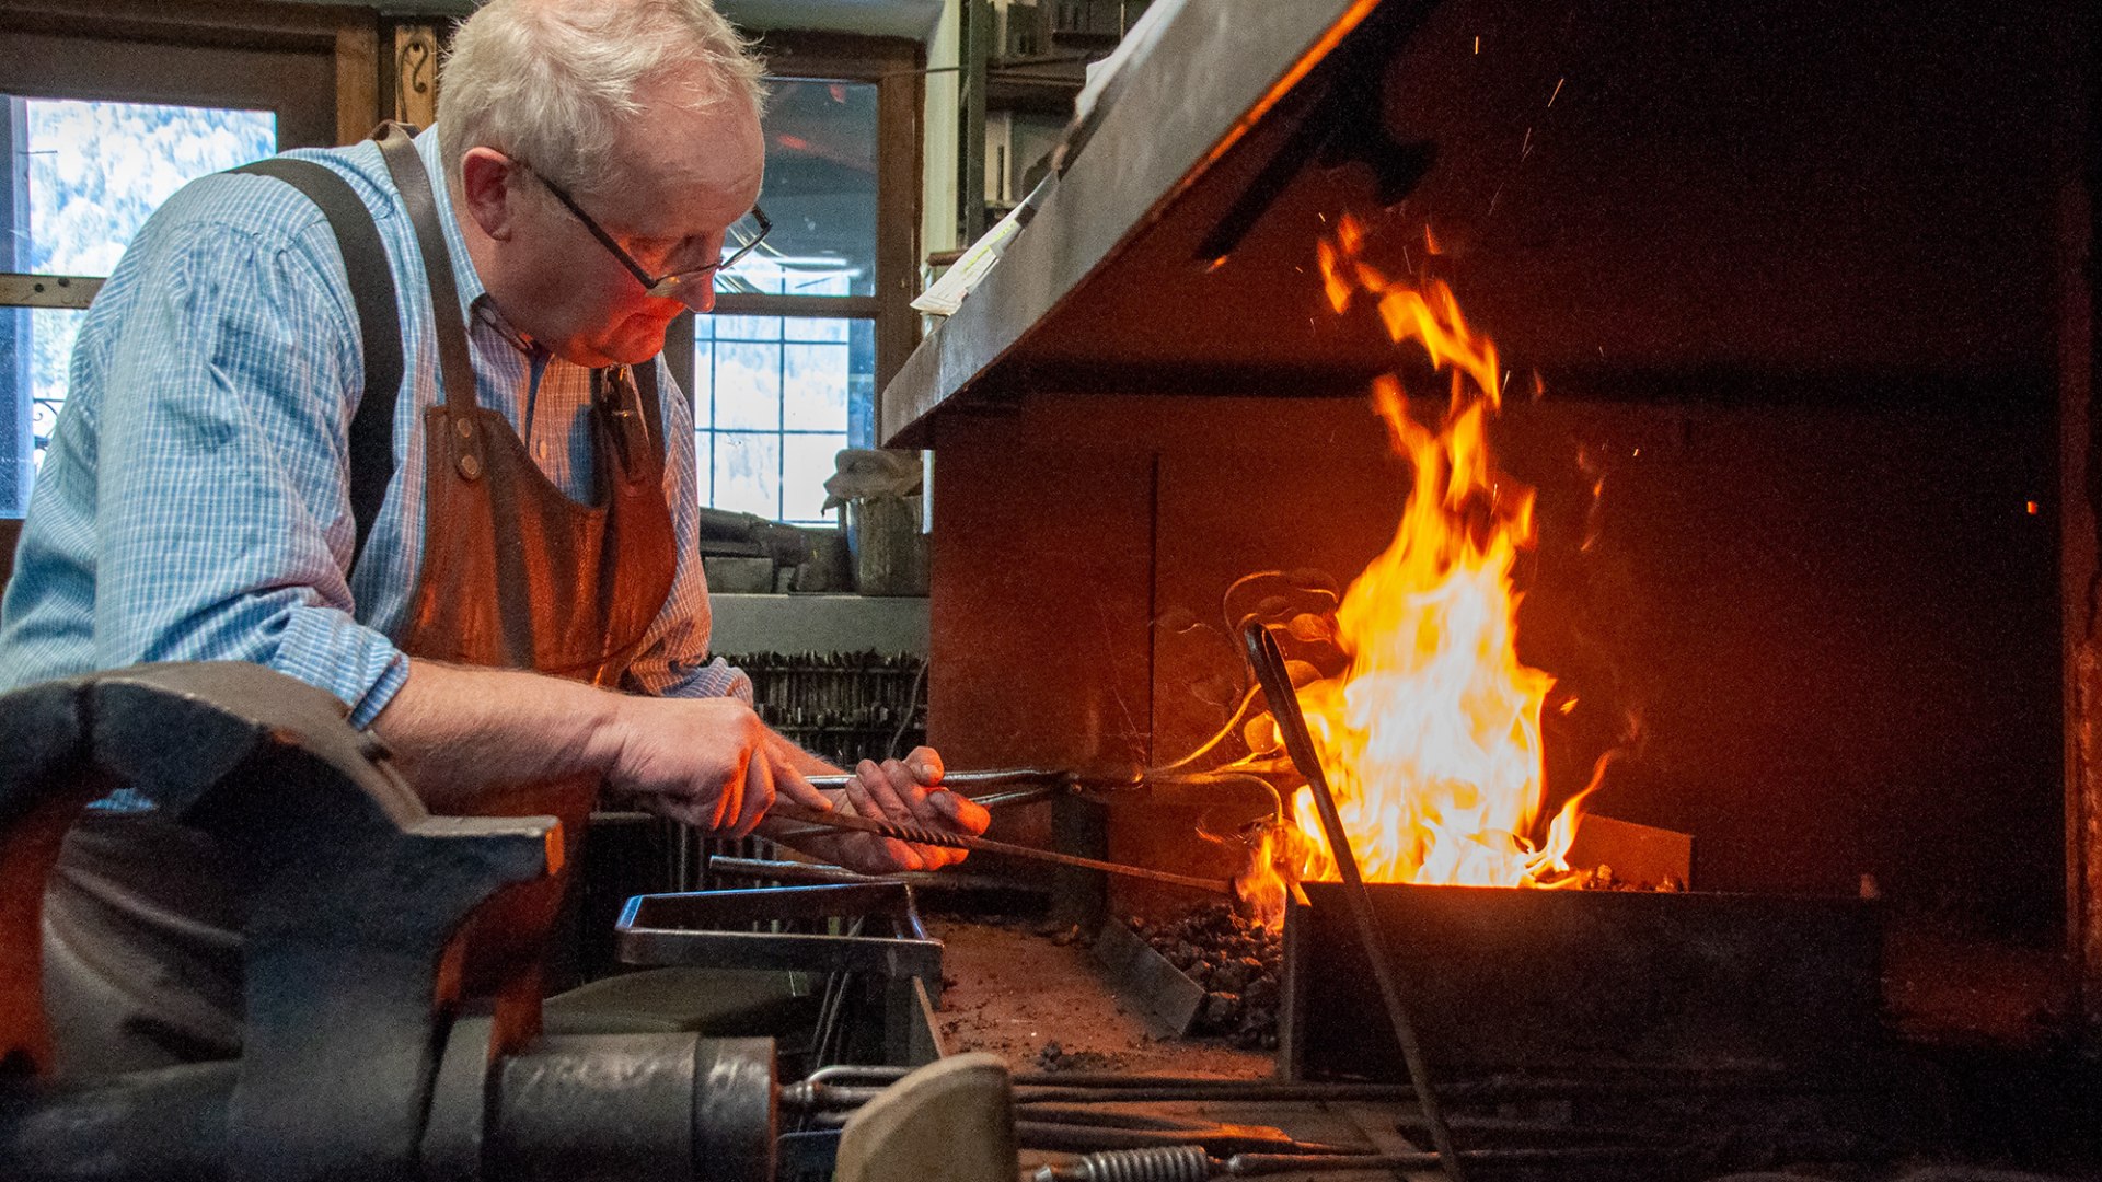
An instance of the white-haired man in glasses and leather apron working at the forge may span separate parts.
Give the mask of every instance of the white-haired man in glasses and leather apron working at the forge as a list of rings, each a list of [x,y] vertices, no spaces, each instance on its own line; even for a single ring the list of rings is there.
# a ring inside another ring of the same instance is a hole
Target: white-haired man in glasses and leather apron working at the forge
[[[603,787],[721,835],[767,831],[778,795],[982,833],[931,749],[818,793],[830,768],[708,658],[694,429],[660,351],[763,233],[759,107],[708,0],[494,0],[431,130],[170,198],[82,324],[0,690],[252,660],[341,696],[441,814],[576,833]],[[46,894],[61,1066],[238,1054],[238,902],[202,837],[118,797]],[[862,833],[809,852],[961,858]]]

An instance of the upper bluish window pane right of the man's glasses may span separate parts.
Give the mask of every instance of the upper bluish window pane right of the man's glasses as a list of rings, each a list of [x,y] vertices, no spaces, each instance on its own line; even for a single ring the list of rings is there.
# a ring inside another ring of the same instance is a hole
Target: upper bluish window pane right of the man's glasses
[[[771,78],[767,240],[725,292],[877,294],[877,84]]]

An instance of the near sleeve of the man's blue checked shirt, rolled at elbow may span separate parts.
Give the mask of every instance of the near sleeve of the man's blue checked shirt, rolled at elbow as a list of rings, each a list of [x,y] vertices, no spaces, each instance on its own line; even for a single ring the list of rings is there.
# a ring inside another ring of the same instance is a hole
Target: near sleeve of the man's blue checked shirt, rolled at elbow
[[[317,219],[286,238],[172,221],[126,257],[139,273],[109,309],[122,324],[76,358],[76,385],[101,393],[74,425],[99,452],[95,658],[252,660],[336,694],[364,726],[408,660],[357,623],[345,583],[362,368],[324,271],[332,238]]]

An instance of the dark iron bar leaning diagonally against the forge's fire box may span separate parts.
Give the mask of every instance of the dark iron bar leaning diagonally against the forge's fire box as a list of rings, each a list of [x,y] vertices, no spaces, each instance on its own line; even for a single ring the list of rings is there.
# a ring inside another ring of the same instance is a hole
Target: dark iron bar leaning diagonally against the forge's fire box
[[[1242,625],[1240,639],[1249,650],[1249,667],[1255,669],[1255,679],[1263,686],[1263,698],[1270,702],[1270,715],[1278,724],[1278,734],[1284,738],[1284,751],[1293,757],[1299,774],[1305,776],[1307,791],[1314,793],[1314,808],[1320,810],[1322,833],[1328,835],[1328,850],[1343,873],[1343,898],[1349,900],[1352,917],[1358,921],[1358,938],[1364,942],[1364,957],[1373,963],[1379,997],[1387,1003],[1387,1022],[1394,1024],[1394,1039],[1402,1045],[1408,1081],[1415,1085],[1417,1104],[1423,1106],[1423,1119],[1431,1127],[1438,1167],[1452,1182],[1465,1182],[1459,1150],[1452,1148],[1452,1129],[1446,1125],[1444,1110],[1440,1110],[1438,1094],[1431,1092],[1431,1075],[1423,1062],[1423,1047],[1417,1045],[1417,1026],[1408,1020],[1408,1007],[1402,1003],[1400,974],[1394,970],[1387,946],[1381,942],[1379,928],[1373,921],[1373,896],[1366,894],[1364,877],[1358,875],[1358,856],[1349,850],[1349,833],[1343,833],[1343,818],[1335,810],[1335,795],[1328,793],[1328,778],[1320,770],[1320,753],[1314,751],[1307,719],[1299,713],[1299,694],[1293,690],[1291,673],[1284,669],[1284,652],[1261,620]]]

